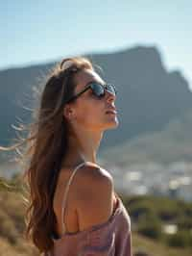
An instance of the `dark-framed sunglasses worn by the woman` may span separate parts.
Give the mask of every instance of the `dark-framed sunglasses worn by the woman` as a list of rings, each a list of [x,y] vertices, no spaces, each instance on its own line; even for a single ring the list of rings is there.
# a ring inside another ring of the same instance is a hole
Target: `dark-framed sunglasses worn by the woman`
[[[117,90],[115,89],[115,86],[111,84],[102,85],[97,82],[90,82],[85,86],[84,90],[80,91],[78,94],[69,98],[65,103],[68,103],[70,101],[77,99],[80,95],[84,93],[84,91],[89,89],[92,90],[93,94],[98,99],[102,99],[103,97],[105,97],[106,91],[112,93],[113,95],[117,94]]]

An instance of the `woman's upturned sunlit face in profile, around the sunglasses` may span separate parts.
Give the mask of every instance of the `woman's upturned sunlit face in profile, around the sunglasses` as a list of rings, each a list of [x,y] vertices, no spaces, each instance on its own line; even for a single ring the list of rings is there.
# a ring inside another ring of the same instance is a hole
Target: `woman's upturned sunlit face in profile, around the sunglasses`
[[[102,85],[104,80],[93,70],[82,70],[75,76],[76,88],[74,93],[77,94],[84,90],[89,82],[97,82]],[[73,103],[69,103],[68,111],[71,114],[69,119],[79,127],[90,131],[105,131],[118,126],[116,114],[108,113],[109,110],[115,109],[116,96],[106,91],[106,95],[99,99],[91,89],[84,91]]]

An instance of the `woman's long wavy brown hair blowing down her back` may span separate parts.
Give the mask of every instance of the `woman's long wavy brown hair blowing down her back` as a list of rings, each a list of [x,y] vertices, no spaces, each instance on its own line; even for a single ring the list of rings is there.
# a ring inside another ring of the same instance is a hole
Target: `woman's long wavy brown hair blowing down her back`
[[[16,149],[19,164],[25,166],[24,178],[27,178],[29,189],[26,236],[40,252],[53,246],[51,232],[56,221],[53,196],[61,161],[67,151],[67,121],[63,106],[65,99],[73,95],[75,74],[83,69],[93,69],[90,61],[83,57],[67,58],[57,64],[43,90],[38,90],[39,106],[33,110],[33,122],[19,127],[28,130],[27,137],[10,147],[0,147],[7,151]]]

